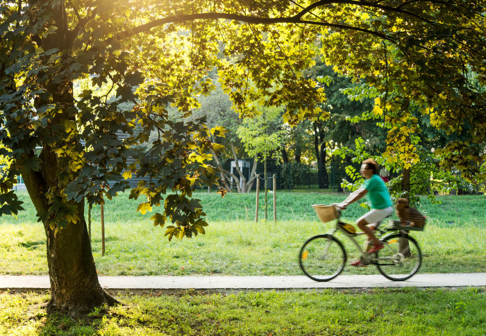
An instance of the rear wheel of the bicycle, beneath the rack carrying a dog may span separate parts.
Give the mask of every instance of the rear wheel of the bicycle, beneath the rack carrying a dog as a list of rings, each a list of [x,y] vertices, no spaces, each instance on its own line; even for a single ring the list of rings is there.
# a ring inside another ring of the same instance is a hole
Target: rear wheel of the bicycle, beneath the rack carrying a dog
[[[417,273],[422,263],[417,241],[406,233],[396,233],[386,237],[383,244],[385,247],[376,253],[376,266],[385,278],[403,281]]]

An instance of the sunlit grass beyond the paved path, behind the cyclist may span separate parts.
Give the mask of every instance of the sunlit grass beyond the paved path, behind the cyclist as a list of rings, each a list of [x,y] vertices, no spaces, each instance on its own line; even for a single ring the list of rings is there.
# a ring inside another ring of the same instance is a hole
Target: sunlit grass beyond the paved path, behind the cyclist
[[[165,229],[153,227],[150,215],[135,212],[136,203],[125,195],[106,205],[106,254],[101,255],[99,208],[93,210],[92,249],[100,275],[301,275],[297,262],[308,237],[332,224],[318,221],[313,203],[332,203],[339,194],[278,194],[278,222],[254,222],[254,194],[221,196],[200,192],[210,226],[206,235],[167,241]],[[26,199],[26,195],[22,194]],[[428,226],[414,233],[424,252],[420,273],[482,272],[486,260],[485,196],[442,196],[442,204],[421,204]],[[253,208],[252,208],[253,207]],[[245,210],[246,208],[246,210]],[[349,221],[365,210],[352,205],[344,213]],[[273,216],[269,212],[269,219]],[[35,211],[26,206],[17,221],[2,217],[0,274],[47,274],[45,237]],[[10,222],[8,222],[10,221]],[[339,235],[349,251],[358,253]],[[362,237],[360,237],[362,239]],[[375,267],[346,267],[344,274],[378,274]]]

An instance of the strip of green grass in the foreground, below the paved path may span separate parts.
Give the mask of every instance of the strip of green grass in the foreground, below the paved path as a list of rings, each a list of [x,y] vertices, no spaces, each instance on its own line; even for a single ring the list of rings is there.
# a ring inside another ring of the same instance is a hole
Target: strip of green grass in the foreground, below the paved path
[[[46,315],[47,294],[0,293],[1,335],[485,335],[482,289],[117,297],[86,319]]]

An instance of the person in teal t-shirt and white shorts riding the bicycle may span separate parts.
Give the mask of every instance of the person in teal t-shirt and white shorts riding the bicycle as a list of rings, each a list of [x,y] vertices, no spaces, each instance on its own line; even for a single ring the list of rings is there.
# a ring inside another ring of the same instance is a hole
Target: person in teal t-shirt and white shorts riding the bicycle
[[[369,194],[371,210],[360,217],[356,221],[356,224],[358,224],[358,227],[366,233],[369,243],[373,245],[368,253],[375,253],[376,251],[383,249],[383,243],[376,238],[374,230],[378,228],[378,225],[380,225],[383,219],[392,215],[392,199],[389,196],[385,182],[383,182],[383,179],[378,175],[378,164],[375,160],[364,160],[361,165],[360,174],[365,178],[363,185],[337,206],[341,209],[346,209],[349,204],[354,203],[355,201],[362,199],[366,194]],[[368,225],[370,225],[370,227],[368,227]],[[365,264],[362,264],[360,260],[352,262],[351,265],[355,267],[366,266]]]

